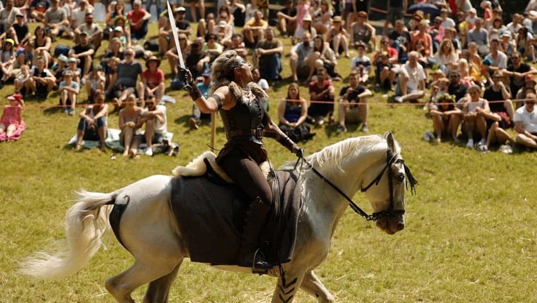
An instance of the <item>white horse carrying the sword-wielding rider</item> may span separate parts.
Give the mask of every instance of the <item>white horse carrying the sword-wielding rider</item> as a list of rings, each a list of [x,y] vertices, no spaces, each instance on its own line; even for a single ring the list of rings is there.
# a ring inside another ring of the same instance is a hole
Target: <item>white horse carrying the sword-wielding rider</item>
[[[306,160],[315,169],[304,169],[300,175],[303,205],[293,259],[268,272],[278,278],[272,302],[292,302],[298,289],[317,297],[319,302],[334,302],[333,295],[313,269],[328,255],[336,224],[348,205],[344,196],[352,197],[357,191],[364,191],[376,213],[377,227],[393,234],[404,228],[406,182],[410,182],[412,189],[416,184],[391,133],[349,138],[325,147]],[[293,169],[293,163],[282,168]],[[149,283],[143,302],[167,302],[182,260],[189,258],[179,224],[169,207],[170,181],[170,176],[150,176],[109,194],[82,191],[79,202],[67,211],[65,251],[54,255],[37,253],[23,262],[21,273],[40,278],[61,278],[76,273],[101,247],[103,233],[109,228],[107,215],[111,205],[129,197],[121,216],[118,239],[136,261],[123,273],[109,278],[106,289],[118,302],[134,302],[132,291]],[[353,209],[356,210],[356,205]]]

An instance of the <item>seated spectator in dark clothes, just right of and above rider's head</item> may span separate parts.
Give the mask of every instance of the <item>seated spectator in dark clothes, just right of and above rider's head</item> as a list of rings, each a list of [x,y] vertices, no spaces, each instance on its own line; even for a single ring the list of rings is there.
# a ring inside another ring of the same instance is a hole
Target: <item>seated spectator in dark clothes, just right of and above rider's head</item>
[[[283,52],[282,41],[274,39],[274,29],[266,28],[265,39],[257,43],[254,57],[262,78],[271,81],[273,85],[281,79]]]

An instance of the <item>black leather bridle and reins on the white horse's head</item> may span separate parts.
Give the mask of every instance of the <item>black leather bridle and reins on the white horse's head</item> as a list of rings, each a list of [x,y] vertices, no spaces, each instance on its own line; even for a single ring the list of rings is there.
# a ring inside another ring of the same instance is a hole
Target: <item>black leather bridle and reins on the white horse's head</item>
[[[354,201],[352,201],[351,198],[349,198],[343,191],[341,191],[341,189],[339,189],[339,187],[337,187],[333,182],[328,180],[328,178],[323,176],[317,169],[315,169],[315,167],[313,167],[313,165],[308,163],[308,161],[306,161],[306,158],[302,158],[302,160],[307,165],[309,165],[311,167],[311,169],[313,170],[313,172],[315,172],[315,174],[317,174],[317,176],[322,178],[322,180],[324,182],[328,183],[328,185],[333,187],[333,189],[335,189],[341,196],[343,196],[348,201],[348,204],[349,204],[350,208],[353,211],[355,211],[355,213],[358,213],[360,216],[362,216],[364,219],[366,219],[368,221],[377,221],[380,218],[385,218],[385,217],[390,217],[390,216],[405,213],[404,209],[394,209],[393,180],[392,180],[392,170],[391,170],[392,165],[394,165],[396,163],[402,163],[403,164],[403,167],[405,168],[405,175],[407,177],[405,185],[408,186],[408,182],[410,182],[410,192],[412,194],[416,193],[415,185],[418,184],[418,181],[414,178],[414,176],[412,176],[412,173],[410,172],[410,168],[408,168],[408,166],[406,166],[406,164],[405,164],[405,160],[403,160],[401,158],[394,157],[392,152],[390,151],[390,149],[388,149],[386,151],[386,166],[381,170],[381,172],[379,173],[377,178],[373,179],[368,184],[368,186],[360,189],[360,191],[364,193],[368,189],[370,189],[370,187],[372,187],[373,185],[379,185],[379,182],[380,182],[380,180],[381,180],[381,178],[382,178],[382,176],[384,174],[384,171],[386,171],[386,169],[388,169],[388,186],[390,187],[390,207],[386,211],[377,211],[376,213],[372,213],[371,215],[368,215]]]

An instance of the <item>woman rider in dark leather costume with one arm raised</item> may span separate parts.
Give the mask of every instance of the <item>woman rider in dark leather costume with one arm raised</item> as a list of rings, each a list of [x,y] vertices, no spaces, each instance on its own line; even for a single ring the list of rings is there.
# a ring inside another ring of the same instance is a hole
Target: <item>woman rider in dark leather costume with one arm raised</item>
[[[211,96],[204,98],[189,70],[179,67],[187,83],[185,89],[201,112],[220,111],[228,141],[216,162],[252,199],[244,224],[238,265],[262,273],[272,265],[258,253],[258,238],[273,203],[271,186],[259,167],[267,160],[262,136],[276,138],[299,157],[303,156],[304,150],[288,138],[264,110],[263,103],[268,96],[253,82],[250,63],[234,50],[229,50],[215,59],[211,69]]]

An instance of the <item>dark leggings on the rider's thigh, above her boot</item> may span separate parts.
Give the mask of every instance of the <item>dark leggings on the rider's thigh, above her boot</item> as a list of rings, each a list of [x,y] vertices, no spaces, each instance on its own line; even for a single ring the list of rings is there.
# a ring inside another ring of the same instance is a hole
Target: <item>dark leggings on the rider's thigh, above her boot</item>
[[[265,205],[272,205],[272,189],[259,165],[244,151],[235,149],[219,163],[228,176],[254,200],[259,197]]]

